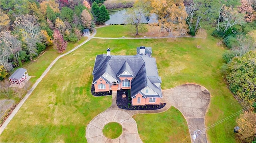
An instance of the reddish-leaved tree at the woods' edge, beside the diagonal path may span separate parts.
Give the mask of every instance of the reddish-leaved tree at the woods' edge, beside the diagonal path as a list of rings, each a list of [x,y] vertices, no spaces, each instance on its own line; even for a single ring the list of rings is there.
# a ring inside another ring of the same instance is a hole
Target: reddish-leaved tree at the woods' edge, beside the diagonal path
[[[53,38],[54,49],[57,49],[58,53],[63,53],[64,51],[66,51],[68,43],[64,41],[59,30],[54,30]]]

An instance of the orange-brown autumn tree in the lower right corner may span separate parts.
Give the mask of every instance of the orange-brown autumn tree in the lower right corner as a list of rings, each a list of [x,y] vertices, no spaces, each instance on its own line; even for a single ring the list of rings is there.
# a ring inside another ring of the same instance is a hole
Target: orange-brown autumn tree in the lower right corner
[[[240,114],[236,123],[240,129],[236,134],[241,142],[252,143],[255,140],[256,135],[256,113],[252,111],[245,111]]]

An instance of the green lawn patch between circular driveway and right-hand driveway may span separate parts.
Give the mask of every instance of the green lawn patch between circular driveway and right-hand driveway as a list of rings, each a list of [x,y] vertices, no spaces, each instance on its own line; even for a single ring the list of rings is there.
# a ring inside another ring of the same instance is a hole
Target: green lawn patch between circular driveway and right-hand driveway
[[[174,107],[160,114],[137,114],[133,118],[144,143],[179,143],[182,139],[182,143],[190,142],[186,120]]]

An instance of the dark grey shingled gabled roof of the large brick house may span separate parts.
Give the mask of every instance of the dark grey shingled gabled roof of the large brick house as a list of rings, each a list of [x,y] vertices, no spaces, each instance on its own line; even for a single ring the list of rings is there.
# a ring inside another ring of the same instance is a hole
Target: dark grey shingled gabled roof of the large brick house
[[[144,95],[145,97],[162,97],[161,87],[156,86],[152,82],[161,81],[161,78],[158,76],[156,59],[143,54],[133,56],[97,55],[92,72],[92,75],[94,75],[93,83],[105,72],[113,76],[117,81],[120,81],[117,76],[124,71],[130,72],[135,77],[131,81],[131,97],[138,94],[146,86],[154,90],[158,95]]]

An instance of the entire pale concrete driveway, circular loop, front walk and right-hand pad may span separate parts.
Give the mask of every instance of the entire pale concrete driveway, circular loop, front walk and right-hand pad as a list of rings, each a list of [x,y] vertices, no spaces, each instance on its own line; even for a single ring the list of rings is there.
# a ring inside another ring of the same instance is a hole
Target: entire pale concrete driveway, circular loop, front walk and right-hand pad
[[[161,102],[166,106],[159,110],[123,110],[116,105],[116,92],[112,95],[112,105],[106,111],[96,116],[86,127],[86,139],[88,143],[141,143],[138,135],[136,121],[132,118],[135,114],[149,114],[165,112],[174,106],[185,117],[190,134],[196,129],[203,130],[204,116],[210,102],[210,93],[206,88],[196,84],[183,84],[168,90],[162,90]],[[123,127],[123,133],[116,139],[108,139],[103,133],[104,125],[109,122],[118,122]],[[191,142],[193,142],[191,136]],[[206,134],[202,132],[196,141],[207,143]]]

